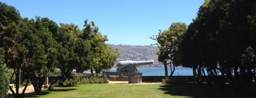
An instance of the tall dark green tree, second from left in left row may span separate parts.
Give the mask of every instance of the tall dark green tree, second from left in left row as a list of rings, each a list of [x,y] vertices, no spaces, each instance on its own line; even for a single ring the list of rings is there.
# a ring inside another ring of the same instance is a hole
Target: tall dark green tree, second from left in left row
[[[41,19],[36,17],[34,24],[27,26],[33,27],[34,25],[35,28],[28,29],[28,31],[32,31],[31,33],[25,35],[26,31],[23,31],[24,36],[27,36],[27,38],[24,38],[23,45],[28,49],[26,56],[29,62],[27,63],[27,68],[24,70],[31,72],[28,74],[35,92],[41,91],[45,77],[48,75],[48,72],[53,71],[56,66],[58,44],[53,39],[52,32],[50,32],[48,28],[47,23],[50,21],[42,21],[43,19],[46,20],[47,18]],[[28,24],[33,23],[33,20],[30,21],[31,22],[27,21]]]

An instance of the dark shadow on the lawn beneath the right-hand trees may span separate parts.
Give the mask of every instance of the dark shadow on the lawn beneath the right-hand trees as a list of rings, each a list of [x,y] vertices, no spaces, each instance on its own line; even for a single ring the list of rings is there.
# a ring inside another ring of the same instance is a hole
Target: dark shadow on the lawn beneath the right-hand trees
[[[159,89],[165,94],[186,98],[243,98],[242,95],[234,94],[232,91],[198,84],[166,84],[160,86]]]

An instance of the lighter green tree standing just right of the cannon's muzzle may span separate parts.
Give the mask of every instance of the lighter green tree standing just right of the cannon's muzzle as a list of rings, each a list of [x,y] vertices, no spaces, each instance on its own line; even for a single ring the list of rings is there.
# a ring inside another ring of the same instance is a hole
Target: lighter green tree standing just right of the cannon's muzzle
[[[150,37],[157,41],[159,50],[157,51],[158,61],[163,62],[165,66],[165,76],[168,76],[167,64],[171,67],[171,75],[175,71],[175,66],[179,66],[179,44],[182,40],[183,34],[186,32],[185,23],[172,23],[168,30],[162,32],[159,30],[158,35]],[[172,66],[173,65],[173,66]]]

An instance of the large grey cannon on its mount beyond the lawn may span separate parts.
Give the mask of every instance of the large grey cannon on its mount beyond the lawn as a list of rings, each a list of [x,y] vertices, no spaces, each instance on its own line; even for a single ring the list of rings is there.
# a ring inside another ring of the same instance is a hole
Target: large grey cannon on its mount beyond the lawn
[[[141,83],[142,72],[137,72],[136,66],[154,64],[154,61],[119,61],[116,72],[104,72],[107,76],[128,76],[129,83]]]

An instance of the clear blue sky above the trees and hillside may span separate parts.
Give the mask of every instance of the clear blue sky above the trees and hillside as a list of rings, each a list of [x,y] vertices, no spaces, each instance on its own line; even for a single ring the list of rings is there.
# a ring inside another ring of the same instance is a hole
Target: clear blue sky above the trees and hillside
[[[204,0],[0,0],[14,6],[23,18],[47,17],[82,29],[94,21],[108,44],[150,45],[150,36],[173,22],[189,25]]]

